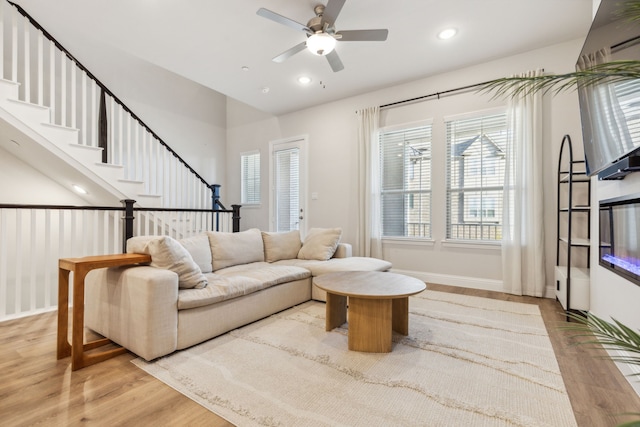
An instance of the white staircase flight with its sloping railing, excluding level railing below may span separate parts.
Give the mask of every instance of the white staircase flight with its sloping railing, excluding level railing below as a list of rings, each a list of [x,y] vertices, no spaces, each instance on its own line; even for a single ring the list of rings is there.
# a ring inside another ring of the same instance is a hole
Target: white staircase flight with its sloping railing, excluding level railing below
[[[66,188],[99,187],[94,204],[211,209],[212,187],[25,15],[0,0],[1,147]]]

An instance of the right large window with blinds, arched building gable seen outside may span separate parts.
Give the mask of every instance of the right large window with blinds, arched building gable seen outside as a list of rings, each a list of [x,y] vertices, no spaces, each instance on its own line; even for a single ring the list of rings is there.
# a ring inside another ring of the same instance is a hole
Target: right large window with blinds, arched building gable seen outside
[[[502,239],[507,117],[447,120],[447,238]]]

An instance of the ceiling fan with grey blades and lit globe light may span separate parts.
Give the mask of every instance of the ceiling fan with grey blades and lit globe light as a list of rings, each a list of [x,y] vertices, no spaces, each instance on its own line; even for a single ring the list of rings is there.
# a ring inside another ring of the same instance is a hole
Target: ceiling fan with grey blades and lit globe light
[[[302,31],[307,35],[303,41],[273,58],[273,62],[284,62],[286,59],[307,48],[315,55],[327,58],[331,69],[338,72],[344,69],[338,53],[334,50],[337,41],[385,41],[389,30],[348,30],[337,31],[336,19],[342,10],[346,0],[329,0],[327,5],[319,4],[313,11],[316,16],[311,18],[307,25],[303,25],[293,19],[279,15],[265,8],[258,9],[257,14],[286,25],[294,30]]]

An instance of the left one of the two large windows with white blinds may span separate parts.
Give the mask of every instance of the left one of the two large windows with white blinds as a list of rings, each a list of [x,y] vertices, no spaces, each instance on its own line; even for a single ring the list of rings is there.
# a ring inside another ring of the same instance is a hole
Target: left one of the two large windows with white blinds
[[[431,125],[380,133],[382,236],[431,237]]]

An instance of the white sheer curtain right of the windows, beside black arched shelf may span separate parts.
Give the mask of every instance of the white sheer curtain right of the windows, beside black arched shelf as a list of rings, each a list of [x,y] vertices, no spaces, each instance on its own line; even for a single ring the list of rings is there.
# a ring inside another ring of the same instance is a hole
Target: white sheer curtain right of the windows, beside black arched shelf
[[[520,77],[542,75],[530,71]],[[513,98],[508,108],[502,281],[504,291],[544,296],[544,192],[542,184],[542,94]]]

